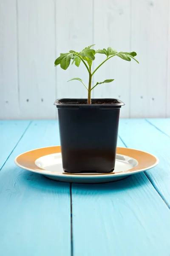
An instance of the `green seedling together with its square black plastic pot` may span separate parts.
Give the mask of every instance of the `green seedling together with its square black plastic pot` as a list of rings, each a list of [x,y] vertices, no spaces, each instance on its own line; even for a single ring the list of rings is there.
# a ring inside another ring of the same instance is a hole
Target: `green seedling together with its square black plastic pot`
[[[88,72],[88,85],[79,80],[88,91],[87,99],[57,99],[54,105],[58,109],[59,133],[62,152],[62,166],[65,172],[109,173],[114,170],[116,144],[118,137],[119,112],[122,105],[119,99],[91,99],[91,91],[98,84],[110,83],[114,79],[96,82],[92,87],[92,77],[110,58],[117,56],[125,61],[135,59],[136,52],[118,52],[108,49],[86,47],[81,52],[70,50],[61,53],[55,60],[55,66],[66,70],[72,64],[85,65]],[[94,71],[92,63],[97,54],[106,55],[105,60]],[[138,62],[139,63],[139,62]],[[71,81],[69,80],[69,81]]]

